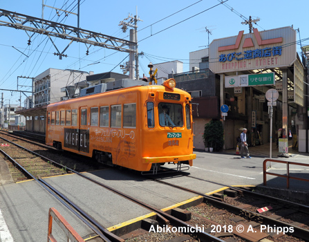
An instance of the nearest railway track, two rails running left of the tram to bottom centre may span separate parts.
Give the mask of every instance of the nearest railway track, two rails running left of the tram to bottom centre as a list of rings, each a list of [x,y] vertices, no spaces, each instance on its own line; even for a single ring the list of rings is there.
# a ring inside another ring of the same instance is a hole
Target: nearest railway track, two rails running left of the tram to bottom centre
[[[6,141],[8,141],[8,140],[6,140]],[[12,142],[10,142],[10,144],[15,145],[16,147],[19,147],[20,149],[24,149],[25,152],[30,152],[30,153],[32,153],[32,155],[35,154],[35,156],[40,156],[38,153],[30,151],[30,150],[28,150],[24,147],[21,147],[20,145],[13,144]],[[61,192],[57,191],[57,189],[55,189],[53,186],[46,183],[46,181],[43,178],[41,178],[41,174],[39,172],[37,172],[37,171],[33,172],[32,169],[29,169],[30,167],[33,166],[33,164],[30,165],[30,166],[28,165],[28,162],[26,162],[28,157],[26,158],[26,160],[19,158],[19,160],[23,160],[22,162],[19,162],[15,158],[11,157],[8,153],[6,153],[6,151],[10,152],[12,150],[15,150],[15,152],[16,152],[16,147],[8,147],[8,146],[1,147],[1,152],[8,159],[10,159],[12,162],[14,162],[14,165],[19,167],[19,169],[25,174],[25,176],[27,178],[32,178],[32,179],[36,180],[42,187],[44,187],[48,192],[50,192],[50,194],[55,196],[62,204],[64,204],[68,209],[70,209],[77,217],[82,219],[82,221],[84,221],[84,223],[86,223],[86,225],[88,225],[91,228],[91,230],[93,230],[93,232],[95,232],[98,236],[100,236],[100,238],[103,241],[117,241],[117,242],[118,241],[124,241],[124,239],[120,238],[119,236],[116,236],[115,234],[112,234],[111,232],[106,230],[106,228],[102,227],[102,225],[97,223],[97,221],[95,221],[84,210],[81,210],[73,201],[70,201],[65,196],[65,194],[62,194]],[[3,148],[6,149],[6,151]],[[26,157],[26,153],[23,153],[22,156]],[[44,158],[44,157],[40,156],[40,158]],[[77,172],[73,169],[64,167],[63,165],[59,164],[55,160],[50,160],[48,158],[44,158],[44,159],[48,160],[50,162],[50,164],[55,164],[59,167],[62,167],[62,169],[65,168],[69,172],[77,174],[78,176],[82,176],[83,178],[86,178],[87,180],[90,180],[91,182],[93,182],[97,185],[100,185],[101,187],[104,187],[105,189],[109,189],[111,192],[114,192],[115,194],[118,194],[118,195],[120,195],[124,198],[127,198],[128,200],[133,201],[134,203],[137,203],[138,205],[141,205],[142,207],[145,207],[145,208],[155,212],[156,213],[156,221],[150,220],[150,221],[144,222],[144,224],[146,223],[146,225],[144,225],[144,226],[146,226],[147,229],[149,229],[149,226],[151,227],[151,225],[155,226],[155,225],[159,225],[159,224],[162,227],[164,227],[165,230],[168,230],[168,231],[170,230],[170,231],[173,231],[173,232],[178,231],[178,228],[185,228],[186,229],[185,233],[183,232],[183,229],[181,230],[181,232],[177,233],[179,236],[183,236],[185,238],[185,241],[221,241],[221,242],[223,242],[221,239],[218,239],[215,236],[212,236],[211,234],[207,234],[206,232],[203,232],[203,230],[200,230],[199,228],[194,227],[193,225],[182,221],[177,216],[173,216],[173,215],[171,215],[167,212],[163,212],[162,210],[158,210],[156,207],[152,207],[151,205],[147,205],[146,203],[143,203],[142,201],[138,201],[137,199],[135,199],[131,196],[128,196],[127,194],[124,194],[124,193],[122,193],[122,192],[120,192],[116,189],[113,189],[112,187],[104,185],[103,183],[100,183],[97,180],[93,180],[92,178],[89,178],[89,177],[85,176],[84,174],[80,174],[79,172]],[[21,163],[23,165],[21,165]],[[176,230],[174,230],[174,228],[176,228]],[[157,233],[154,233],[154,234],[156,236],[158,235]],[[174,234],[176,234],[176,232]],[[189,234],[189,235],[185,235],[185,234]],[[168,235],[168,233],[166,235]]]

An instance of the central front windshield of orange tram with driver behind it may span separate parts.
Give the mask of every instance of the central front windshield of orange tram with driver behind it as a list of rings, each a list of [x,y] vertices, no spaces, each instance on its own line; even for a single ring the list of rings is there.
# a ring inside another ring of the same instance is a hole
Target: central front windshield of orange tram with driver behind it
[[[165,127],[182,127],[183,115],[181,104],[171,104],[161,102],[158,105],[159,110],[159,123],[160,126]]]

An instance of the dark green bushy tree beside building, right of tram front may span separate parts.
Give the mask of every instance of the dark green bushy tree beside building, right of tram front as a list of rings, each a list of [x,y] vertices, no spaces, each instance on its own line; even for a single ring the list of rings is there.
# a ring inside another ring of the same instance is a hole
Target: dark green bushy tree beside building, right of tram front
[[[203,134],[205,147],[213,147],[214,151],[223,149],[223,125],[219,120],[211,120],[205,124]]]

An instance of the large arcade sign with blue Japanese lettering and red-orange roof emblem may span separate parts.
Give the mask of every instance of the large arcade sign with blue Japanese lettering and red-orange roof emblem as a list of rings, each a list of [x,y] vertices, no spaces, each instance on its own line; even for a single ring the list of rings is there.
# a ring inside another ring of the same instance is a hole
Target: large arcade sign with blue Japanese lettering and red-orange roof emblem
[[[209,45],[213,73],[291,66],[297,59],[296,31],[291,27],[215,39]]]

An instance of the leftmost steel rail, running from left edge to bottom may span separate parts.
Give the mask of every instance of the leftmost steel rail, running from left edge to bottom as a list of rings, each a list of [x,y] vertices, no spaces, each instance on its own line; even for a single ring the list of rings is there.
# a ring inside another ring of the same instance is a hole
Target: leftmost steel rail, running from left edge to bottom
[[[32,176],[32,174],[30,174],[22,165],[19,164],[19,162],[17,162],[16,160],[14,160],[12,157],[10,157],[5,151],[3,151],[2,149],[0,149],[1,153],[3,153],[5,156],[7,156],[12,162],[15,163],[15,165],[17,165],[20,169],[22,169],[29,177],[33,178],[34,180],[37,181],[37,183],[39,183],[39,185],[41,185],[42,187],[44,187],[44,189],[46,189],[51,195],[53,195],[60,203],[62,203],[65,207],[68,208],[68,210],[70,210],[71,212],[73,212],[73,214],[75,214],[79,219],[81,219],[86,225],[88,225],[88,227],[91,228],[91,230],[93,230],[93,232],[95,232],[96,234],[98,234],[104,241],[106,242],[123,242],[124,240],[121,239],[120,237],[116,236],[115,234],[113,234],[113,237],[115,239],[113,239],[112,241],[108,238],[106,238],[106,236],[111,237],[111,232],[109,232],[109,230],[106,230],[105,228],[103,228],[102,226],[99,227],[100,230],[97,230],[96,227],[94,227],[91,223],[89,223],[88,221],[90,220],[86,220],[84,216],[84,214],[86,214],[86,212],[84,212],[82,209],[80,209],[79,207],[75,207],[75,210],[73,210],[73,208],[70,206],[72,205],[71,201],[66,201],[66,203],[64,202],[64,200],[62,200],[61,198],[59,198],[59,196],[56,195],[56,192],[53,191],[53,189],[51,189],[50,185],[48,185],[48,183],[46,183],[45,181],[43,182],[43,180],[41,180],[41,178],[36,178],[35,176]],[[78,212],[78,213],[77,213]],[[83,216],[81,216],[81,214],[83,214]],[[88,219],[88,218],[87,218]],[[98,226],[97,226],[98,227]],[[106,234],[106,236],[104,235]],[[119,238],[119,239],[117,239]]]

